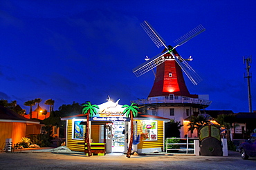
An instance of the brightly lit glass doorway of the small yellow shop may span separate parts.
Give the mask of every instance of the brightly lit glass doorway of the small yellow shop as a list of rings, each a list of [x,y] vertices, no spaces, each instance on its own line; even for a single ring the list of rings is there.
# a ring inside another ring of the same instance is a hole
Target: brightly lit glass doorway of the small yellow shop
[[[114,122],[112,152],[125,151],[125,122]]]

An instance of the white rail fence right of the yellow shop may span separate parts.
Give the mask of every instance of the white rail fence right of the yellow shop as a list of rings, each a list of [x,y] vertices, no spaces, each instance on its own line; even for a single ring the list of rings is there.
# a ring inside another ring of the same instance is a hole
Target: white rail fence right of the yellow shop
[[[171,143],[171,142],[168,142],[168,139],[185,140],[185,142]],[[193,141],[193,142],[189,142],[189,140]],[[170,145],[172,145],[172,146],[170,146]],[[174,147],[174,148],[172,148],[172,147]],[[190,154],[199,155],[199,138],[166,138],[165,151],[166,151],[166,153],[168,153],[168,151],[173,151],[171,153],[175,152],[175,153],[179,153],[179,154],[181,154],[181,153],[189,154],[188,152],[192,151],[192,153],[190,153]]]

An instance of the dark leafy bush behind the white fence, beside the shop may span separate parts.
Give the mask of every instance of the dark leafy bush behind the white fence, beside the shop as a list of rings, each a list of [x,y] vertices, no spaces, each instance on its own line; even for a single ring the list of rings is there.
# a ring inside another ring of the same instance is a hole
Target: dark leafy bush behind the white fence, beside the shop
[[[165,138],[180,138],[181,137],[181,122],[175,121],[174,119],[170,119],[170,122],[165,123]]]

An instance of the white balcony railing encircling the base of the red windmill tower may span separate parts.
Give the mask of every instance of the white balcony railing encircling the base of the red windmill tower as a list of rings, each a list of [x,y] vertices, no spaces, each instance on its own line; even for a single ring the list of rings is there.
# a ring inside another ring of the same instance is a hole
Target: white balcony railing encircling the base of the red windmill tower
[[[148,99],[132,100],[131,103],[137,103],[138,105],[154,104],[154,103],[188,103],[197,105],[210,105],[212,101],[200,99],[200,98],[189,98],[185,96],[158,96]]]

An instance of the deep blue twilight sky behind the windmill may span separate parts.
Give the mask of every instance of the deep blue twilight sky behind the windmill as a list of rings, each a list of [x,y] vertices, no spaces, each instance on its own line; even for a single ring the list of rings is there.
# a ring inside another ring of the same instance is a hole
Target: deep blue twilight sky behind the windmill
[[[108,95],[120,105],[147,98],[154,74],[131,72],[163,50],[140,27],[147,20],[170,45],[199,24],[206,28],[177,50],[192,55],[203,81],[185,82],[191,94],[210,95],[208,109],[248,111],[243,56],[251,55],[255,110],[255,8],[254,0],[0,1],[0,99],[28,109],[26,100],[52,98],[57,109],[101,104]]]

